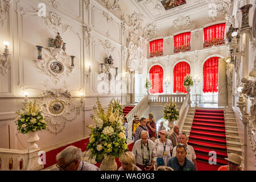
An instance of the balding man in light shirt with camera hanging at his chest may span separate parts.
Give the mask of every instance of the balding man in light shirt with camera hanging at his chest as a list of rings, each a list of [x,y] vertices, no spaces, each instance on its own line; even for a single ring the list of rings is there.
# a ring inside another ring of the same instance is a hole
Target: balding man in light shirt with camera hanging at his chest
[[[154,171],[156,161],[155,144],[148,137],[147,131],[141,131],[141,139],[134,143],[132,151],[136,159],[136,166],[142,171]]]

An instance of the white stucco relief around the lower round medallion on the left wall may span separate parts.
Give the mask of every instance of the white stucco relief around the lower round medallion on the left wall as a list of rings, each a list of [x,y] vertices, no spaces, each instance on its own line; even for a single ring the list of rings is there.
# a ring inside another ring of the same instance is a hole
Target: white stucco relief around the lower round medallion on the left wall
[[[68,90],[47,90],[42,93],[41,98],[47,130],[52,134],[60,133],[67,122],[74,121],[80,114],[80,106],[74,105],[74,100]]]

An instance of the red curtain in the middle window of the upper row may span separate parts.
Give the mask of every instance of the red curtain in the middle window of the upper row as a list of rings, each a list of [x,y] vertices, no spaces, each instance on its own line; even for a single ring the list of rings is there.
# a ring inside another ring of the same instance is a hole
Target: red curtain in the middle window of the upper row
[[[191,50],[191,32],[174,36],[174,53]]]

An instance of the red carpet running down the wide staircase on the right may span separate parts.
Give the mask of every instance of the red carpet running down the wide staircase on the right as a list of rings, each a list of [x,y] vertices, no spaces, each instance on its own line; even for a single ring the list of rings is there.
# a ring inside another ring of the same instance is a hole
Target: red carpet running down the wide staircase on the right
[[[225,121],[223,110],[197,109],[193,119],[188,144],[196,152],[199,171],[216,171],[221,165],[228,164],[226,148]],[[209,164],[210,151],[215,151],[217,164]]]

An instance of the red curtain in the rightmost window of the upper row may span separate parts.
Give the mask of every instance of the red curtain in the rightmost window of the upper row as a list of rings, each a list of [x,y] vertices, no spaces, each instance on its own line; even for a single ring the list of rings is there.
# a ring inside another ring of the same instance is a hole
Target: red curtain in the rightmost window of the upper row
[[[225,23],[204,28],[204,47],[225,44]]]

